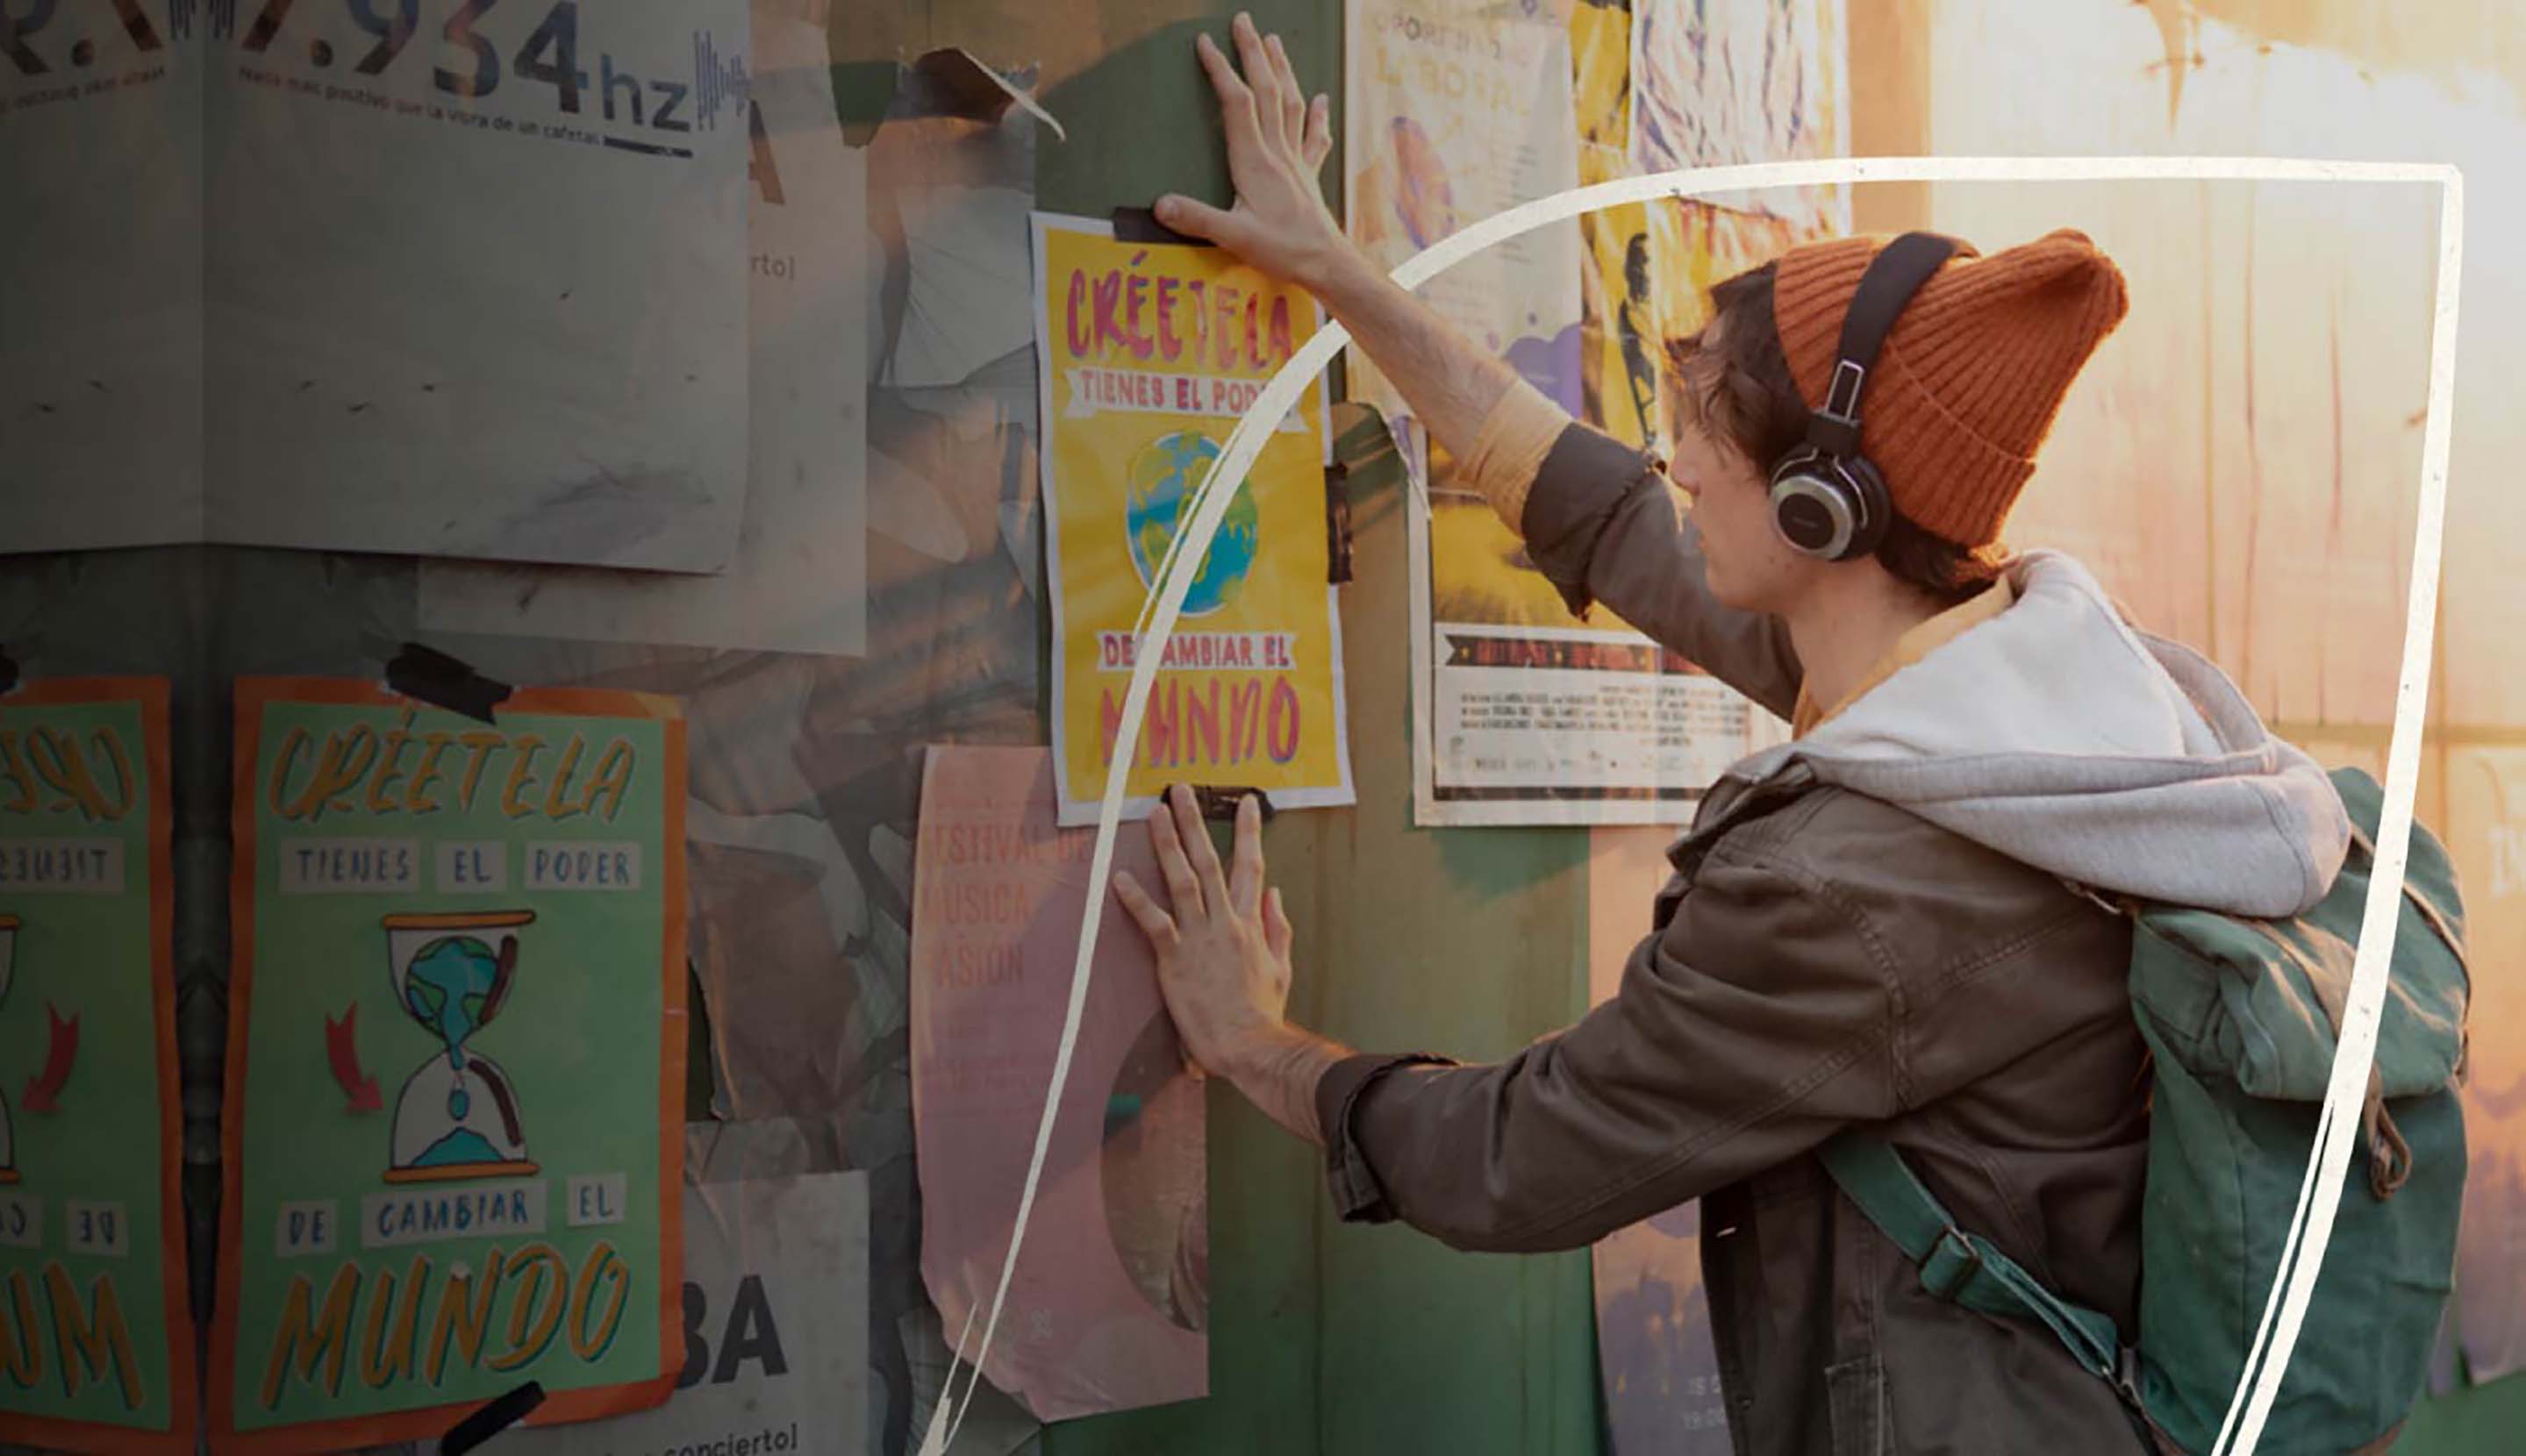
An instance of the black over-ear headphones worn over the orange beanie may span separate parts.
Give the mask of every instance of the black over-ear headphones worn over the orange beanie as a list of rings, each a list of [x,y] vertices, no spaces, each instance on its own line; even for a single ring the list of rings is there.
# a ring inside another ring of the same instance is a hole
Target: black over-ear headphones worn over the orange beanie
[[[1877,550],[1894,520],[1887,482],[1859,454],[1859,394],[1894,318],[1920,285],[1958,252],[1953,237],[1905,232],[1877,250],[1841,315],[1841,346],[1824,409],[1806,414],[1806,442],[1771,467],[1771,522],[1781,540],[1824,560]]]

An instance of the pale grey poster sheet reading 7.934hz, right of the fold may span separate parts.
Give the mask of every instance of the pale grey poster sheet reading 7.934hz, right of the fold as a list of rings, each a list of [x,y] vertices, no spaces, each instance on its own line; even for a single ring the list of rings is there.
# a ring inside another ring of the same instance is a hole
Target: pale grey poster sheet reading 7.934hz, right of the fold
[[[725,568],[745,0],[200,18],[210,537]]]

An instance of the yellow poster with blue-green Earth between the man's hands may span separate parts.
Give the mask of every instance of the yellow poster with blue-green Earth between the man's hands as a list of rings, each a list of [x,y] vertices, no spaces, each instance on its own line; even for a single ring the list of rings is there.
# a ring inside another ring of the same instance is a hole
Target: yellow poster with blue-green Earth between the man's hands
[[[1053,578],[1061,823],[1091,823],[1116,757],[1137,623],[1197,492],[1316,300],[1218,247],[1119,242],[1038,212],[1036,348]],[[1329,583],[1324,381],[1271,421],[1164,646],[1124,802],[1170,782],[1351,802],[1341,618]]]

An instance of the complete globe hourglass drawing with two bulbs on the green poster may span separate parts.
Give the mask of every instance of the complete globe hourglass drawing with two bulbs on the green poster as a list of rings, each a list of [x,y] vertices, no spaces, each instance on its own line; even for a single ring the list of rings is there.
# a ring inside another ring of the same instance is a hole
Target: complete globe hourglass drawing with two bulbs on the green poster
[[[508,1072],[467,1045],[518,984],[520,931],[533,921],[536,911],[384,919],[394,1004],[440,1040],[394,1100],[389,1183],[536,1171]]]

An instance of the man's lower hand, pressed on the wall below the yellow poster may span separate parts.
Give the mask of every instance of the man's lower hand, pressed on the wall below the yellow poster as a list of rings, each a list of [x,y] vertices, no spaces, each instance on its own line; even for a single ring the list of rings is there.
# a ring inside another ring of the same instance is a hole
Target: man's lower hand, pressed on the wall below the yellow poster
[[[1185,1052],[1235,1077],[1286,1035],[1288,1014],[1291,929],[1281,891],[1263,886],[1263,815],[1253,795],[1238,800],[1238,840],[1223,873],[1192,790],[1177,785],[1149,813],[1149,845],[1167,903],[1129,871],[1114,873],[1114,896],[1157,951],[1157,987]]]

